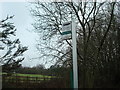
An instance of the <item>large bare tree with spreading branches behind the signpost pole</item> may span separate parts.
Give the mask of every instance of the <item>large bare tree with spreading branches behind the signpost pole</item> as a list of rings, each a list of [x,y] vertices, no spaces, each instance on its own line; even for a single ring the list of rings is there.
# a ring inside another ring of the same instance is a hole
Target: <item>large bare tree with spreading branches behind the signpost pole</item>
[[[81,87],[94,87],[97,72],[100,73],[102,67],[108,64],[107,59],[103,56],[106,57],[111,51],[113,51],[112,54],[115,52],[115,47],[113,46],[110,51],[111,46],[109,45],[114,43],[114,40],[110,38],[115,33],[115,31],[111,31],[114,28],[115,2],[41,3],[38,1],[33,5],[35,9],[32,9],[31,13],[36,20],[33,26],[41,38],[45,38],[39,44],[40,47],[41,44],[44,45],[44,47],[42,46],[44,50],[41,48],[39,50],[42,50],[43,56],[53,56],[57,64],[72,65],[70,64],[72,63],[71,40],[61,39],[58,33],[61,33],[63,22],[70,21],[71,18],[76,20],[78,63],[83,81]],[[107,42],[108,40],[109,42]],[[56,41],[56,43],[54,44],[52,41]],[[50,43],[46,44],[47,42]],[[105,50],[106,47],[107,50]],[[110,55],[107,58],[111,58]],[[112,58],[112,60],[114,59]],[[104,62],[105,64],[103,64]]]

